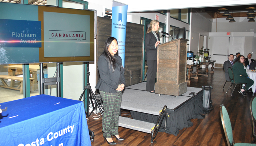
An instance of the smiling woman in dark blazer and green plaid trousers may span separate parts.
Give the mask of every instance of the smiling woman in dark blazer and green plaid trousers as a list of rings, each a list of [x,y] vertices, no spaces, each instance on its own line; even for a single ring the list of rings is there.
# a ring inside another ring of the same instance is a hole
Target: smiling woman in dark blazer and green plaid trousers
[[[118,56],[116,38],[109,37],[106,40],[104,51],[99,56],[98,70],[100,78],[95,88],[99,89],[103,101],[103,137],[109,145],[115,145],[111,135],[114,135],[117,141],[124,140],[118,134],[118,119],[125,86],[124,68],[122,59]]]

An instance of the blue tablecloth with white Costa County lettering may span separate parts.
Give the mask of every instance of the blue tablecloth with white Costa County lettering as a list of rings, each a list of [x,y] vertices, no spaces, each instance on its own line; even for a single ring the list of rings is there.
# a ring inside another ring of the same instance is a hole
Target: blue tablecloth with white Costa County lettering
[[[0,146],[91,146],[81,101],[38,95],[0,105]]]

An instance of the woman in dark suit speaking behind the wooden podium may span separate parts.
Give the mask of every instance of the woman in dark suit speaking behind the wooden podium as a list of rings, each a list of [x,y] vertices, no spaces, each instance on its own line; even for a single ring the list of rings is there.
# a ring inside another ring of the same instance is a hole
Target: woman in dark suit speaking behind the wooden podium
[[[147,29],[145,37],[145,59],[147,60],[147,84],[146,90],[150,93],[155,93],[155,76],[157,74],[157,45],[160,43],[160,38],[157,33],[159,28],[158,20],[152,20],[150,27]]]

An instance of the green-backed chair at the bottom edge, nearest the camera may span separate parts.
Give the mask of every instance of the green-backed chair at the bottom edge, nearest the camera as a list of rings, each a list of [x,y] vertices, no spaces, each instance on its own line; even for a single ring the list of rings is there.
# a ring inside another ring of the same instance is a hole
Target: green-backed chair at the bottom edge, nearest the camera
[[[256,146],[255,144],[252,144],[252,143],[234,143],[229,114],[227,113],[227,110],[223,104],[221,104],[220,108],[221,108],[221,110],[220,110],[221,123],[222,123],[224,133],[225,133],[225,136],[227,139],[227,145],[228,146]]]

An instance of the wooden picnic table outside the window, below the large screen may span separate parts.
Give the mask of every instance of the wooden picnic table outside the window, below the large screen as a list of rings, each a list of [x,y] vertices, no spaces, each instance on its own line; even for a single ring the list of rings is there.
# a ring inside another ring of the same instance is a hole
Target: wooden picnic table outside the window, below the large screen
[[[15,76],[15,71],[16,69],[20,69],[22,70],[22,65],[8,65],[8,66],[4,66],[4,68],[8,68],[8,69],[11,69],[12,70],[12,73],[11,75],[12,76]],[[30,74],[32,74],[32,77],[33,80],[32,81],[32,88],[31,88],[31,91],[35,91],[37,89],[37,70],[40,69],[39,65],[29,65],[29,71],[30,71]],[[11,85],[10,87],[14,87],[14,82],[15,80],[11,80]]]

